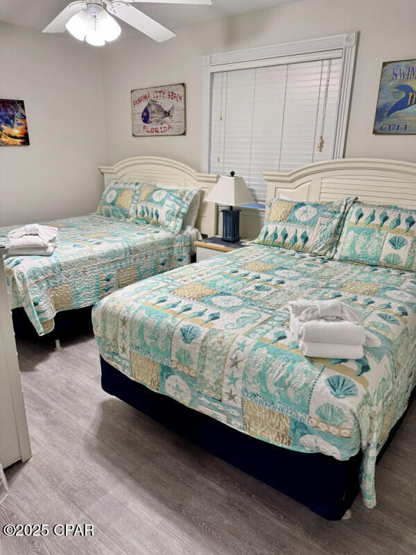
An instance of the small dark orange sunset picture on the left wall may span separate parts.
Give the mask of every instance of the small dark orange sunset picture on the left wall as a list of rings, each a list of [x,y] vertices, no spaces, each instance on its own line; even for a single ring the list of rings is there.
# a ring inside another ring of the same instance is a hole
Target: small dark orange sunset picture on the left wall
[[[29,144],[24,101],[0,99],[0,146]]]

